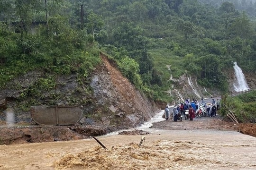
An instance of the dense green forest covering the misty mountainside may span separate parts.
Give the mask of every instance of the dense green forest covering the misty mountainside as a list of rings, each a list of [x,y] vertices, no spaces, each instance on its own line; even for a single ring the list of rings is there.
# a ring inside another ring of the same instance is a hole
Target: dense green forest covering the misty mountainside
[[[226,93],[233,61],[256,73],[255,15],[255,0],[1,0],[0,87],[39,68],[82,81],[101,51],[155,100],[170,100],[170,72]]]

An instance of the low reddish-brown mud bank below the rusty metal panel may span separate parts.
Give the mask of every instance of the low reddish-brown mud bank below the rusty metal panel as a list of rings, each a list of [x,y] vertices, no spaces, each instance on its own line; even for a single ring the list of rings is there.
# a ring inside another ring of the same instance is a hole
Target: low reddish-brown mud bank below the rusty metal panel
[[[87,139],[106,135],[111,127],[87,126],[18,126],[0,125],[0,144],[26,144]]]

